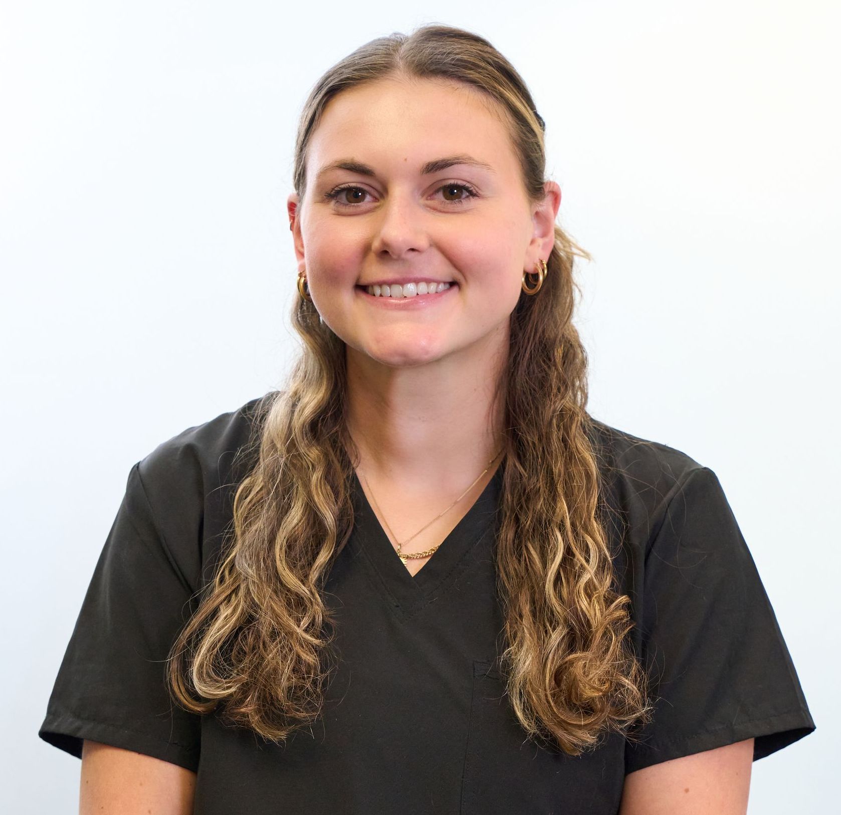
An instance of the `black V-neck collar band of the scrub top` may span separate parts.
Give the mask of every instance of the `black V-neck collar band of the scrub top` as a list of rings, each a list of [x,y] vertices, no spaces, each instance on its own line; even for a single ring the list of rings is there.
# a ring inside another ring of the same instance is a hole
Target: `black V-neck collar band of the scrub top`
[[[486,534],[495,532],[495,513],[499,505],[502,485],[500,463],[484,490],[467,513],[432,553],[417,574],[411,574],[400,560],[389,536],[380,525],[368,497],[362,490],[356,471],[352,478],[354,534],[359,557],[369,567],[378,590],[390,605],[405,613],[418,611],[421,606],[440,595],[453,579],[467,568],[468,553]]]

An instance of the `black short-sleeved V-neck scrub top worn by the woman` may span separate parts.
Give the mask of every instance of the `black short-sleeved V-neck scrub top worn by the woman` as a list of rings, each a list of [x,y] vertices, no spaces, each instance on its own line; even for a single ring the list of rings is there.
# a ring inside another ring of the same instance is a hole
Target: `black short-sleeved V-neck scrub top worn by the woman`
[[[165,660],[212,577],[257,401],[131,468],[40,728],[50,744],[79,756],[88,738],[194,770],[198,815],[613,815],[634,770],[752,737],[760,759],[814,730],[716,475],[599,422],[618,585],[653,675],[636,741],[613,733],[570,757],[527,740],[510,710],[494,561],[504,464],[414,576],[353,477],[352,536],[325,583],[341,659],[315,723],[278,746],[184,712]]]

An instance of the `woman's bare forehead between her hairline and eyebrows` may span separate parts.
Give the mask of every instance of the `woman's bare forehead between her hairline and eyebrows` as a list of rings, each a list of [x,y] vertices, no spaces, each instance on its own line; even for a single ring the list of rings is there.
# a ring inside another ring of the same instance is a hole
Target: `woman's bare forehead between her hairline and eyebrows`
[[[519,172],[505,112],[463,82],[381,79],[342,91],[309,141],[308,176],[353,156],[374,167],[417,170],[439,156],[469,155],[495,172]]]

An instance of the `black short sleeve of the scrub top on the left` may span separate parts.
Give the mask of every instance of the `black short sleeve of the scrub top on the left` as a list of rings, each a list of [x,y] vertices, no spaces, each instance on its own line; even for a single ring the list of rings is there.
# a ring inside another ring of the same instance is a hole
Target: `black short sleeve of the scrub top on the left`
[[[135,464],[40,738],[77,757],[88,738],[197,770],[200,717],[177,707],[166,680],[167,655],[192,598],[184,569],[158,532]]]

